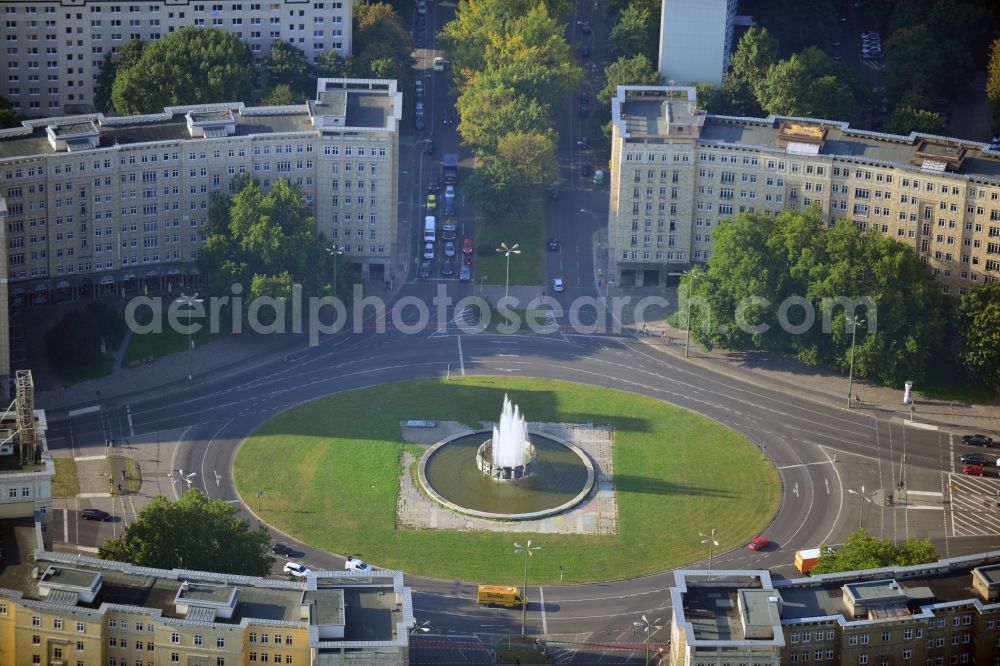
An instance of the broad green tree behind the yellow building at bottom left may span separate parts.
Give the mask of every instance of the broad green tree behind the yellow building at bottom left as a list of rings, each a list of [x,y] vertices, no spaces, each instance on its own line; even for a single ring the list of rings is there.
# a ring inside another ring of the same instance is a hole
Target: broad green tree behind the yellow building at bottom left
[[[156,569],[266,576],[274,564],[267,553],[270,535],[237,513],[238,507],[210,500],[197,488],[177,502],[158,495],[124,534],[104,542],[99,556]]]

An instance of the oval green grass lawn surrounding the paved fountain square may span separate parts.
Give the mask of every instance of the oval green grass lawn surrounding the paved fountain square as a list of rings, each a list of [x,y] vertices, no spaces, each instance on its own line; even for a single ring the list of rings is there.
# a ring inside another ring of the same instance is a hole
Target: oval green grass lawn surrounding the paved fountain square
[[[618,535],[397,529],[405,419],[499,418],[504,393],[529,421],[615,427]],[[531,582],[632,578],[703,560],[698,532],[740,546],[774,515],[780,483],[760,450],[729,428],[658,400],[570,382],[463,377],[383,384],[312,401],[261,425],[240,446],[236,487],[247,506],[297,539],[374,565],[470,582],[519,584],[514,541],[542,546]],[[522,556],[523,557],[523,556]]]

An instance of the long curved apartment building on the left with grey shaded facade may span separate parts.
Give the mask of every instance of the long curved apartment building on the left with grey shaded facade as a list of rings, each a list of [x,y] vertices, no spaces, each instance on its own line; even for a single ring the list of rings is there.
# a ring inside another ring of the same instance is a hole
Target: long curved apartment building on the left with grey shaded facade
[[[396,249],[401,106],[395,81],[320,79],[301,106],[176,107],[0,131],[11,305],[190,285],[211,197],[244,174],[265,190],[280,178],[302,188],[318,231],[381,279]]]

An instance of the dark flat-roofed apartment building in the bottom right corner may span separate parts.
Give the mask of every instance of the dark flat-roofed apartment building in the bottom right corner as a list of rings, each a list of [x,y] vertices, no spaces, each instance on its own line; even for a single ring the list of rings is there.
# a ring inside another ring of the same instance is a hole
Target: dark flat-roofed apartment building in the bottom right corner
[[[772,581],[679,571],[671,666],[1000,664],[1000,551]]]

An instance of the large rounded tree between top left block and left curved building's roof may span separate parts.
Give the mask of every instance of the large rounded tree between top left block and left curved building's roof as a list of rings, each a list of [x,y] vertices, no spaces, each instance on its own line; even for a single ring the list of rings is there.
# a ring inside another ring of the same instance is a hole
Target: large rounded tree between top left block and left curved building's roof
[[[111,100],[122,114],[164,107],[250,99],[250,47],[225,30],[181,28],[149,44],[138,62],[115,77]]]

